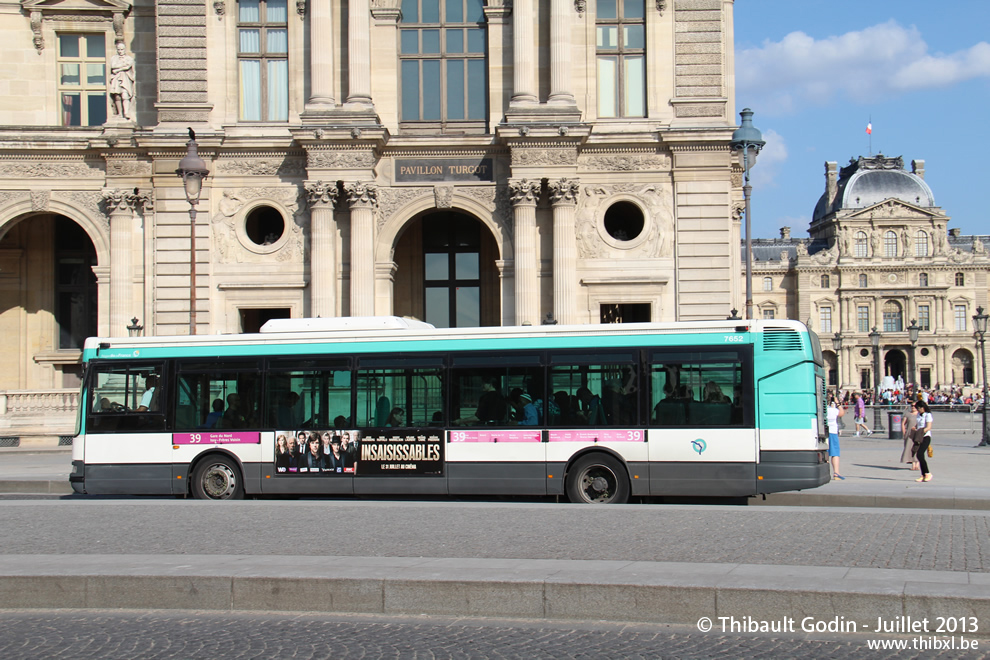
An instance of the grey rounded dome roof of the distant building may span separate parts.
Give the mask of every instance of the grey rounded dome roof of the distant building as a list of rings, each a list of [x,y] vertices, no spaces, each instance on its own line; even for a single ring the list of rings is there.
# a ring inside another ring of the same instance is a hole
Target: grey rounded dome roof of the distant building
[[[901,157],[851,160],[839,173],[835,200],[828,204],[826,192],[815,206],[814,220],[840,209],[862,209],[887,199],[899,199],[920,207],[935,206],[935,196],[925,180],[904,171]]]

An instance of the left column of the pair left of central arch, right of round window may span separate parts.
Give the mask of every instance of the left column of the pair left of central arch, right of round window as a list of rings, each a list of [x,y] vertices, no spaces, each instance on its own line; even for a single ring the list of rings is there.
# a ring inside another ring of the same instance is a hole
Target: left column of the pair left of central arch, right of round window
[[[317,181],[305,187],[310,209],[309,313],[330,318],[337,315],[337,225],[333,219],[337,186]]]

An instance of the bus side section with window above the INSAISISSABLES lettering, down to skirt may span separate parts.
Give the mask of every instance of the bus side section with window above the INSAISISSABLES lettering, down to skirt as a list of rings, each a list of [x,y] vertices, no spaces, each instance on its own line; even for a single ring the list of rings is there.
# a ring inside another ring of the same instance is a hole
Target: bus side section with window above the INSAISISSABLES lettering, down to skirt
[[[358,359],[354,492],[445,494],[442,356]]]

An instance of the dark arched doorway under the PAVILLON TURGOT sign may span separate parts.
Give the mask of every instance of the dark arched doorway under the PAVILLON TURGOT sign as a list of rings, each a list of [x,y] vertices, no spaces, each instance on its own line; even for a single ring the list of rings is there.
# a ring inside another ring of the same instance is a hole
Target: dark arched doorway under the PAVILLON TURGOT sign
[[[498,245],[459,211],[428,211],[396,238],[393,312],[438,328],[500,325]]]

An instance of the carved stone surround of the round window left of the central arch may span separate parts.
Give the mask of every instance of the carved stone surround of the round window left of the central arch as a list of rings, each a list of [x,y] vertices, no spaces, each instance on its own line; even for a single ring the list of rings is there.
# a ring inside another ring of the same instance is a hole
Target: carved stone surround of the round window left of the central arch
[[[281,247],[270,253],[259,253],[244,245],[239,238],[238,225],[244,222],[244,207],[255,200],[275,202],[289,217],[285,220],[288,234]],[[299,189],[296,187],[258,187],[225,190],[218,204],[219,212],[211,220],[213,242],[221,263],[263,263],[274,255],[276,261],[301,261],[305,252],[305,226],[308,214],[301,210]]]

